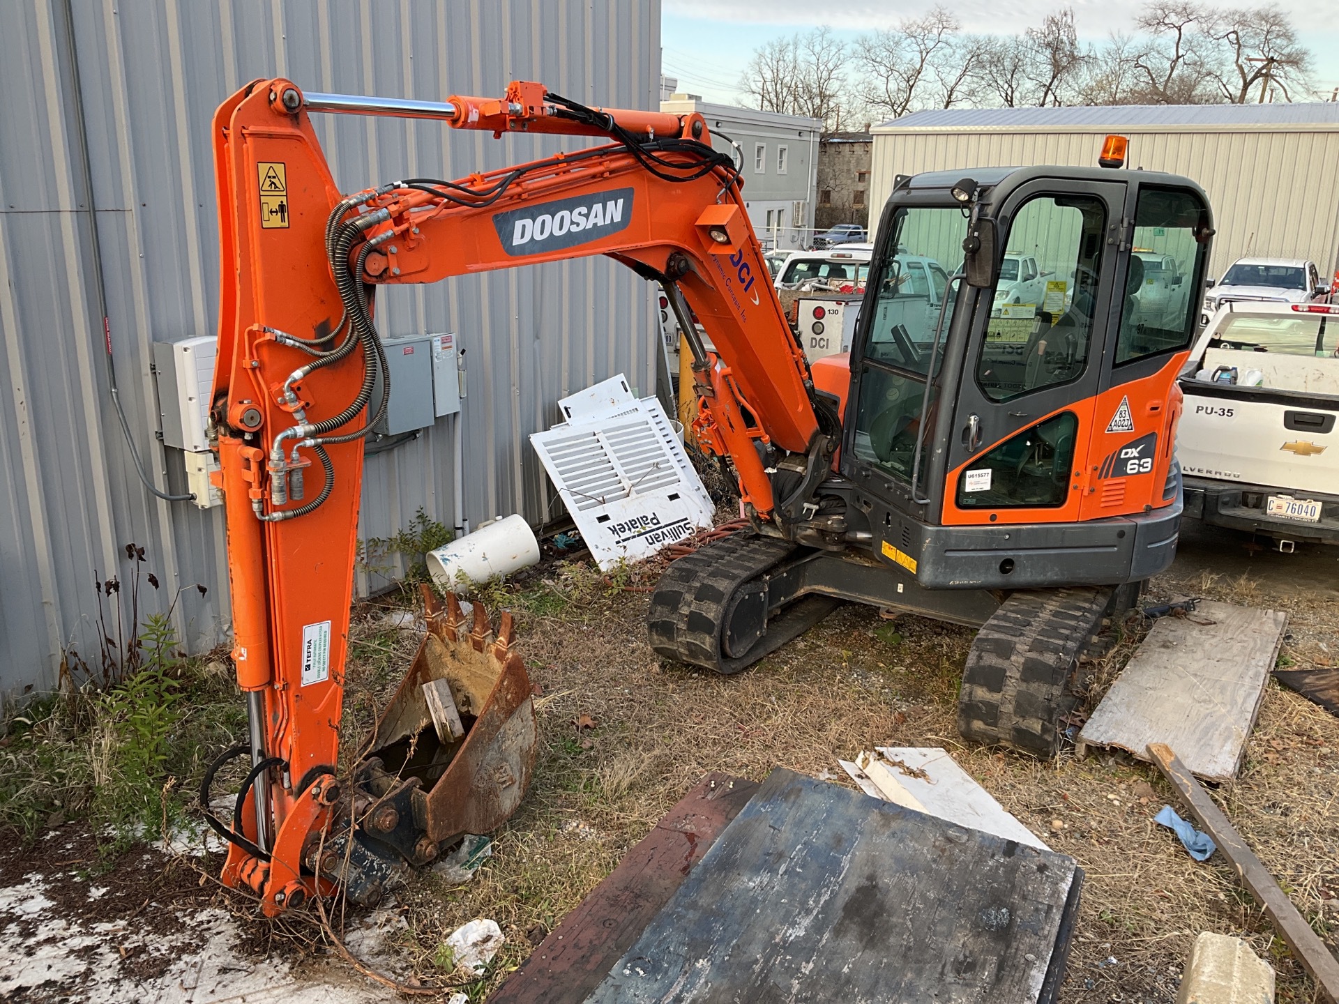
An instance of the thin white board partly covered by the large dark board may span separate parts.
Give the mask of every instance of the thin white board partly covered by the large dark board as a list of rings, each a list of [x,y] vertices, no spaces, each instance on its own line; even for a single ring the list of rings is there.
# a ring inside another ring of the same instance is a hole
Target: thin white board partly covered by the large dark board
[[[939,747],[880,746],[877,751],[897,778],[897,783],[920,805],[921,811],[951,823],[984,830],[1030,847],[1050,850],[976,783],[947,750]],[[916,806],[911,806],[915,809]]]

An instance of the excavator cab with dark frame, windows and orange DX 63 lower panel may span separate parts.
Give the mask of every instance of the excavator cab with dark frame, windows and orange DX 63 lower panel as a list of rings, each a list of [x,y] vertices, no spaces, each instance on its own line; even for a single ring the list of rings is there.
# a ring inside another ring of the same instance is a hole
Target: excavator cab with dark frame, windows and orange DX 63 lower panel
[[[931,589],[1119,586],[1165,569],[1181,507],[1174,375],[1210,233],[1201,189],[1166,174],[904,178],[838,465],[877,557]],[[1142,296],[1137,248],[1193,278]],[[919,258],[941,264],[928,274],[945,289],[904,280]]]

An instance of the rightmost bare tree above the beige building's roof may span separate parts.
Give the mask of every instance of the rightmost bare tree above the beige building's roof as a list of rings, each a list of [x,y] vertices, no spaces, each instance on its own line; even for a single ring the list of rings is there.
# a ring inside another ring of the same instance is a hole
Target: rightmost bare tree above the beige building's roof
[[[1223,100],[1245,104],[1257,83],[1261,102],[1271,90],[1291,102],[1289,84],[1310,88],[1311,54],[1277,7],[1223,11],[1209,21],[1208,33],[1218,44],[1218,60],[1208,76]]]

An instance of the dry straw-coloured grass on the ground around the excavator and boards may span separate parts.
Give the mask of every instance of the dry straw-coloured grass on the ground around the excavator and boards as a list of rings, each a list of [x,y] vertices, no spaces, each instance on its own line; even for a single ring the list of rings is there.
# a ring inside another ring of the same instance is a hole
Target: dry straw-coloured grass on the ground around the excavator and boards
[[[449,888],[420,873],[400,892],[410,920],[406,961],[424,976],[434,973],[438,945],[454,928],[491,917],[507,944],[490,979],[474,989],[482,999],[707,771],[762,779],[783,766],[828,776],[838,755],[897,744],[952,750],[1006,809],[1086,870],[1062,1000],[1174,1000],[1200,930],[1248,938],[1277,968],[1280,1001],[1316,999],[1221,855],[1198,865],[1152,822],[1165,802],[1176,805],[1156,770],[1106,756],[1039,763],[959,739],[955,701],[969,631],[917,617],[889,625],[874,610],[848,606],[739,676],[663,668],[645,643],[645,596],[617,588],[641,576],[653,572],[605,578],[589,566],[549,566],[489,597],[516,613],[526,665],[546,695],[536,780],[473,882]],[[1280,600],[1247,577],[1164,577],[1154,586],[1150,601]],[[1289,602],[1284,657],[1302,664],[1339,652],[1339,594]],[[1135,641],[1135,633],[1118,639],[1087,667],[1090,707]],[[412,639],[394,632],[368,633],[355,647],[355,726],[411,652]],[[596,727],[578,734],[578,715]],[[1331,940],[1339,932],[1336,750],[1339,720],[1271,684],[1241,775],[1217,792],[1293,902]]]

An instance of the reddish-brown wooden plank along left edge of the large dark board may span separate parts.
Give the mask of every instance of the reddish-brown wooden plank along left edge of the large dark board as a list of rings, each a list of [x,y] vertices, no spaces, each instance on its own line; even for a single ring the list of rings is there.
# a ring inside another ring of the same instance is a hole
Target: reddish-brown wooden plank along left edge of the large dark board
[[[708,774],[624,855],[489,997],[489,1004],[577,1004],[749,802],[758,784]]]

